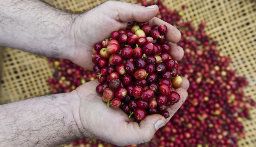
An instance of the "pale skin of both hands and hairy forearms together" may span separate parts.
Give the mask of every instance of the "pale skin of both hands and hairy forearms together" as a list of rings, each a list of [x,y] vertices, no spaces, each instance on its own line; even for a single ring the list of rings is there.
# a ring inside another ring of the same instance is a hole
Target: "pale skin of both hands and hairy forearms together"
[[[180,32],[155,18],[158,7],[108,1],[84,14],[68,14],[37,0],[0,2],[0,45],[43,56],[69,59],[92,69],[92,47],[125,29],[129,21],[165,24],[169,53],[182,59],[184,52],[174,43]],[[35,97],[0,105],[0,146],[57,146],[77,137],[101,139],[116,145],[148,142],[155,131],[170,120],[154,114],[140,123],[128,118],[121,109],[106,107],[95,91],[98,81],[90,81],[65,94]],[[170,116],[187,98],[189,82],[176,91],[181,100],[168,107]]]

